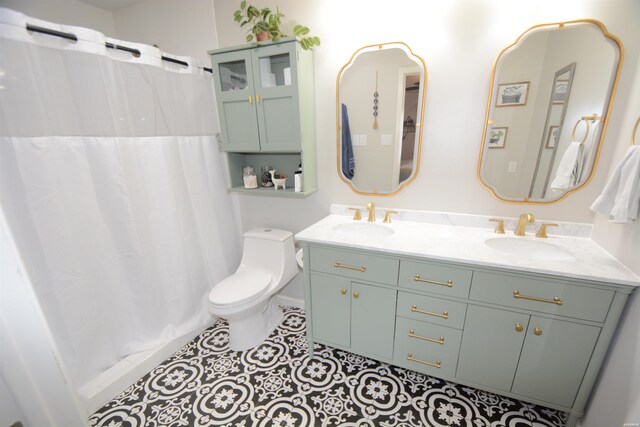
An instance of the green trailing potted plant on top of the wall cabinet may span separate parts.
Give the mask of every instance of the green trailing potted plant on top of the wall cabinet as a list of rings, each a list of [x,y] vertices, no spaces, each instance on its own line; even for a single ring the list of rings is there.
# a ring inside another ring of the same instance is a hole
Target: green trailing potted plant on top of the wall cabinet
[[[255,37],[256,41],[273,40],[277,41],[287,35],[282,31],[282,18],[284,14],[276,7],[273,12],[268,7],[259,9],[242,0],[240,9],[233,13],[233,20],[240,24],[240,28],[249,25],[246,39],[248,42]],[[303,49],[313,49],[314,46],[320,46],[320,38],[315,36],[307,36],[309,28],[304,25],[296,25],[293,27],[293,35],[300,42]]]

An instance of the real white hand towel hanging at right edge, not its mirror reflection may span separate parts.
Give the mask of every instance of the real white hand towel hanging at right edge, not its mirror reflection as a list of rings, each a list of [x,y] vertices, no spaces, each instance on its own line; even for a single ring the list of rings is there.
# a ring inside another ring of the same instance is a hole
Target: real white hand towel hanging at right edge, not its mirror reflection
[[[613,171],[591,210],[625,224],[640,216],[640,146],[632,145]]]

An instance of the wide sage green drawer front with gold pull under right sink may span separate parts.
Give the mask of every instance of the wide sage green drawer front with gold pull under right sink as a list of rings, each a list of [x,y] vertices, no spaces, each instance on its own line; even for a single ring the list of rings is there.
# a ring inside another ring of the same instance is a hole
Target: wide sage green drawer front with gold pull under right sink
[[[603,322],[613,291],[551,280],[476,272],[470,299]]]

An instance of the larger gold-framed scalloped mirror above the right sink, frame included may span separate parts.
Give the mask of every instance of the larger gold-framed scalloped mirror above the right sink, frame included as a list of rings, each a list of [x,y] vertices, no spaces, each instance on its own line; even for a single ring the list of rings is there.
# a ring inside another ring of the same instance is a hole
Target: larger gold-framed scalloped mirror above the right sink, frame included
[[[511,203],[555,203],[589,183],[622,69],[596,20],[531,27],[491,74],[478,179]]]

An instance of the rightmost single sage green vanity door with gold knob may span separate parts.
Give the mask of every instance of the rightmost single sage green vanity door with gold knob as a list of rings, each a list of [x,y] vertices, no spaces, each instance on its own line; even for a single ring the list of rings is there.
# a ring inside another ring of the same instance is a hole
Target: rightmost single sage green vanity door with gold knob
[[[511,391],[571,407],[600,328],[532,316]]]

